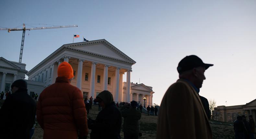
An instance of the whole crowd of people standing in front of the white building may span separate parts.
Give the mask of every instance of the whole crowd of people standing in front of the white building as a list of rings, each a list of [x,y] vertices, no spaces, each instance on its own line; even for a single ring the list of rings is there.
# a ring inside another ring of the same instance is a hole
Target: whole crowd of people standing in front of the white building
[[[31,139],[35,121],[44,130],[44,139],[86,139],[91,129],[91,139],[121,139],[122,117],[125,139],[138,139],[142,135],[139,120],[142,112],[157,116],[157,139],[212,139],[209,124],[209,103],[199,96],[204,72],[213,64],[205,64],[195,56],[183,58],[177,67],[179,80],[166,91],[161,108],[147,106],[132,101],[115,103],[109,91],[100,92],[95,99],[83,98],[82,92],[70,82],[73,69],[68,62],[58,67],[58,77],[54,84],[46,87],[38,95],[28,95],[27,82],[16,80],[11,91],[0,93],[6,100],[0,109],[0,138]],[[99,105],[96,119],[87,118],[92,104]],[[145,106],[144,106],[145,107]],[[252,139],[255,122],[249,115],[238,116],[234,122],[236,139]]]

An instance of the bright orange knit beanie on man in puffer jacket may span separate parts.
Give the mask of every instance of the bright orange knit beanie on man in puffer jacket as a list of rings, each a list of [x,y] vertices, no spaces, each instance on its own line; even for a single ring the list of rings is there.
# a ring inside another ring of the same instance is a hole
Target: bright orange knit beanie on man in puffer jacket
[[[64,61],[59,65],[58,77],[66,77],[68,79],[71,79],[74,77],[73,69],[68,62]]]

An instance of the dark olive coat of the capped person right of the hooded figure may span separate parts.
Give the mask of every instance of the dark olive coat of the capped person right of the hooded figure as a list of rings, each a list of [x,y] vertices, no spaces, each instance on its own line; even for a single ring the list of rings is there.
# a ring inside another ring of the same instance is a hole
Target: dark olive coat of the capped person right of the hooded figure
[[[141,113],[136,108],[129,108],[122,111],[123,121],[123,132],[125,134],[136,134],[140,132],[139,120],[141,118]]]

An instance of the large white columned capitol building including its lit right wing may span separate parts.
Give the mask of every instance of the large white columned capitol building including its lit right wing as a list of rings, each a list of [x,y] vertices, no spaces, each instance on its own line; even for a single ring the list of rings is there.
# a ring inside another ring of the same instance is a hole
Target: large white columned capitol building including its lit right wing
[[[71,84],[84,97],[95,98],[99,92],[108,90],[115,102],[144,101],[145,97],[146,104],[152,103],[152,87],[130,83],[132,65],[136,62],[105,39],[61,46],[27,73],[28,80],[42,82],[44,88],[53,84],[63,61],[73,67],[75,77]],[[125,72],[126,82],[122,82]]]

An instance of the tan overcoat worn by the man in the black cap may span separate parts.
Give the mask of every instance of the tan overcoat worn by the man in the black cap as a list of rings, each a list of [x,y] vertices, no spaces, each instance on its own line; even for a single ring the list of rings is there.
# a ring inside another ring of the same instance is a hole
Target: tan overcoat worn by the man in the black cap
[[[198,93],[179,79],[166,91],[157,119],[157,139],[212,139]]]

